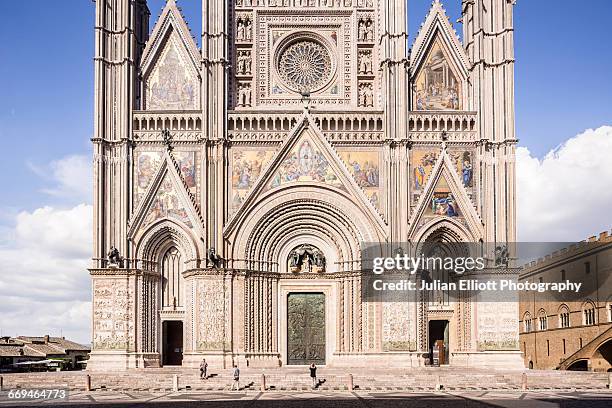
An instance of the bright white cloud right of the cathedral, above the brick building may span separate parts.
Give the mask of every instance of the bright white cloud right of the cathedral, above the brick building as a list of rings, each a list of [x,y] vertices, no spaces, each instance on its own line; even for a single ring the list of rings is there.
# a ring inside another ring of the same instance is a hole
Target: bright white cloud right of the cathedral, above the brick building
[[[589,129],[543,159],[517,149],[519,241],[580,241],[610,230],[612,127]]]

